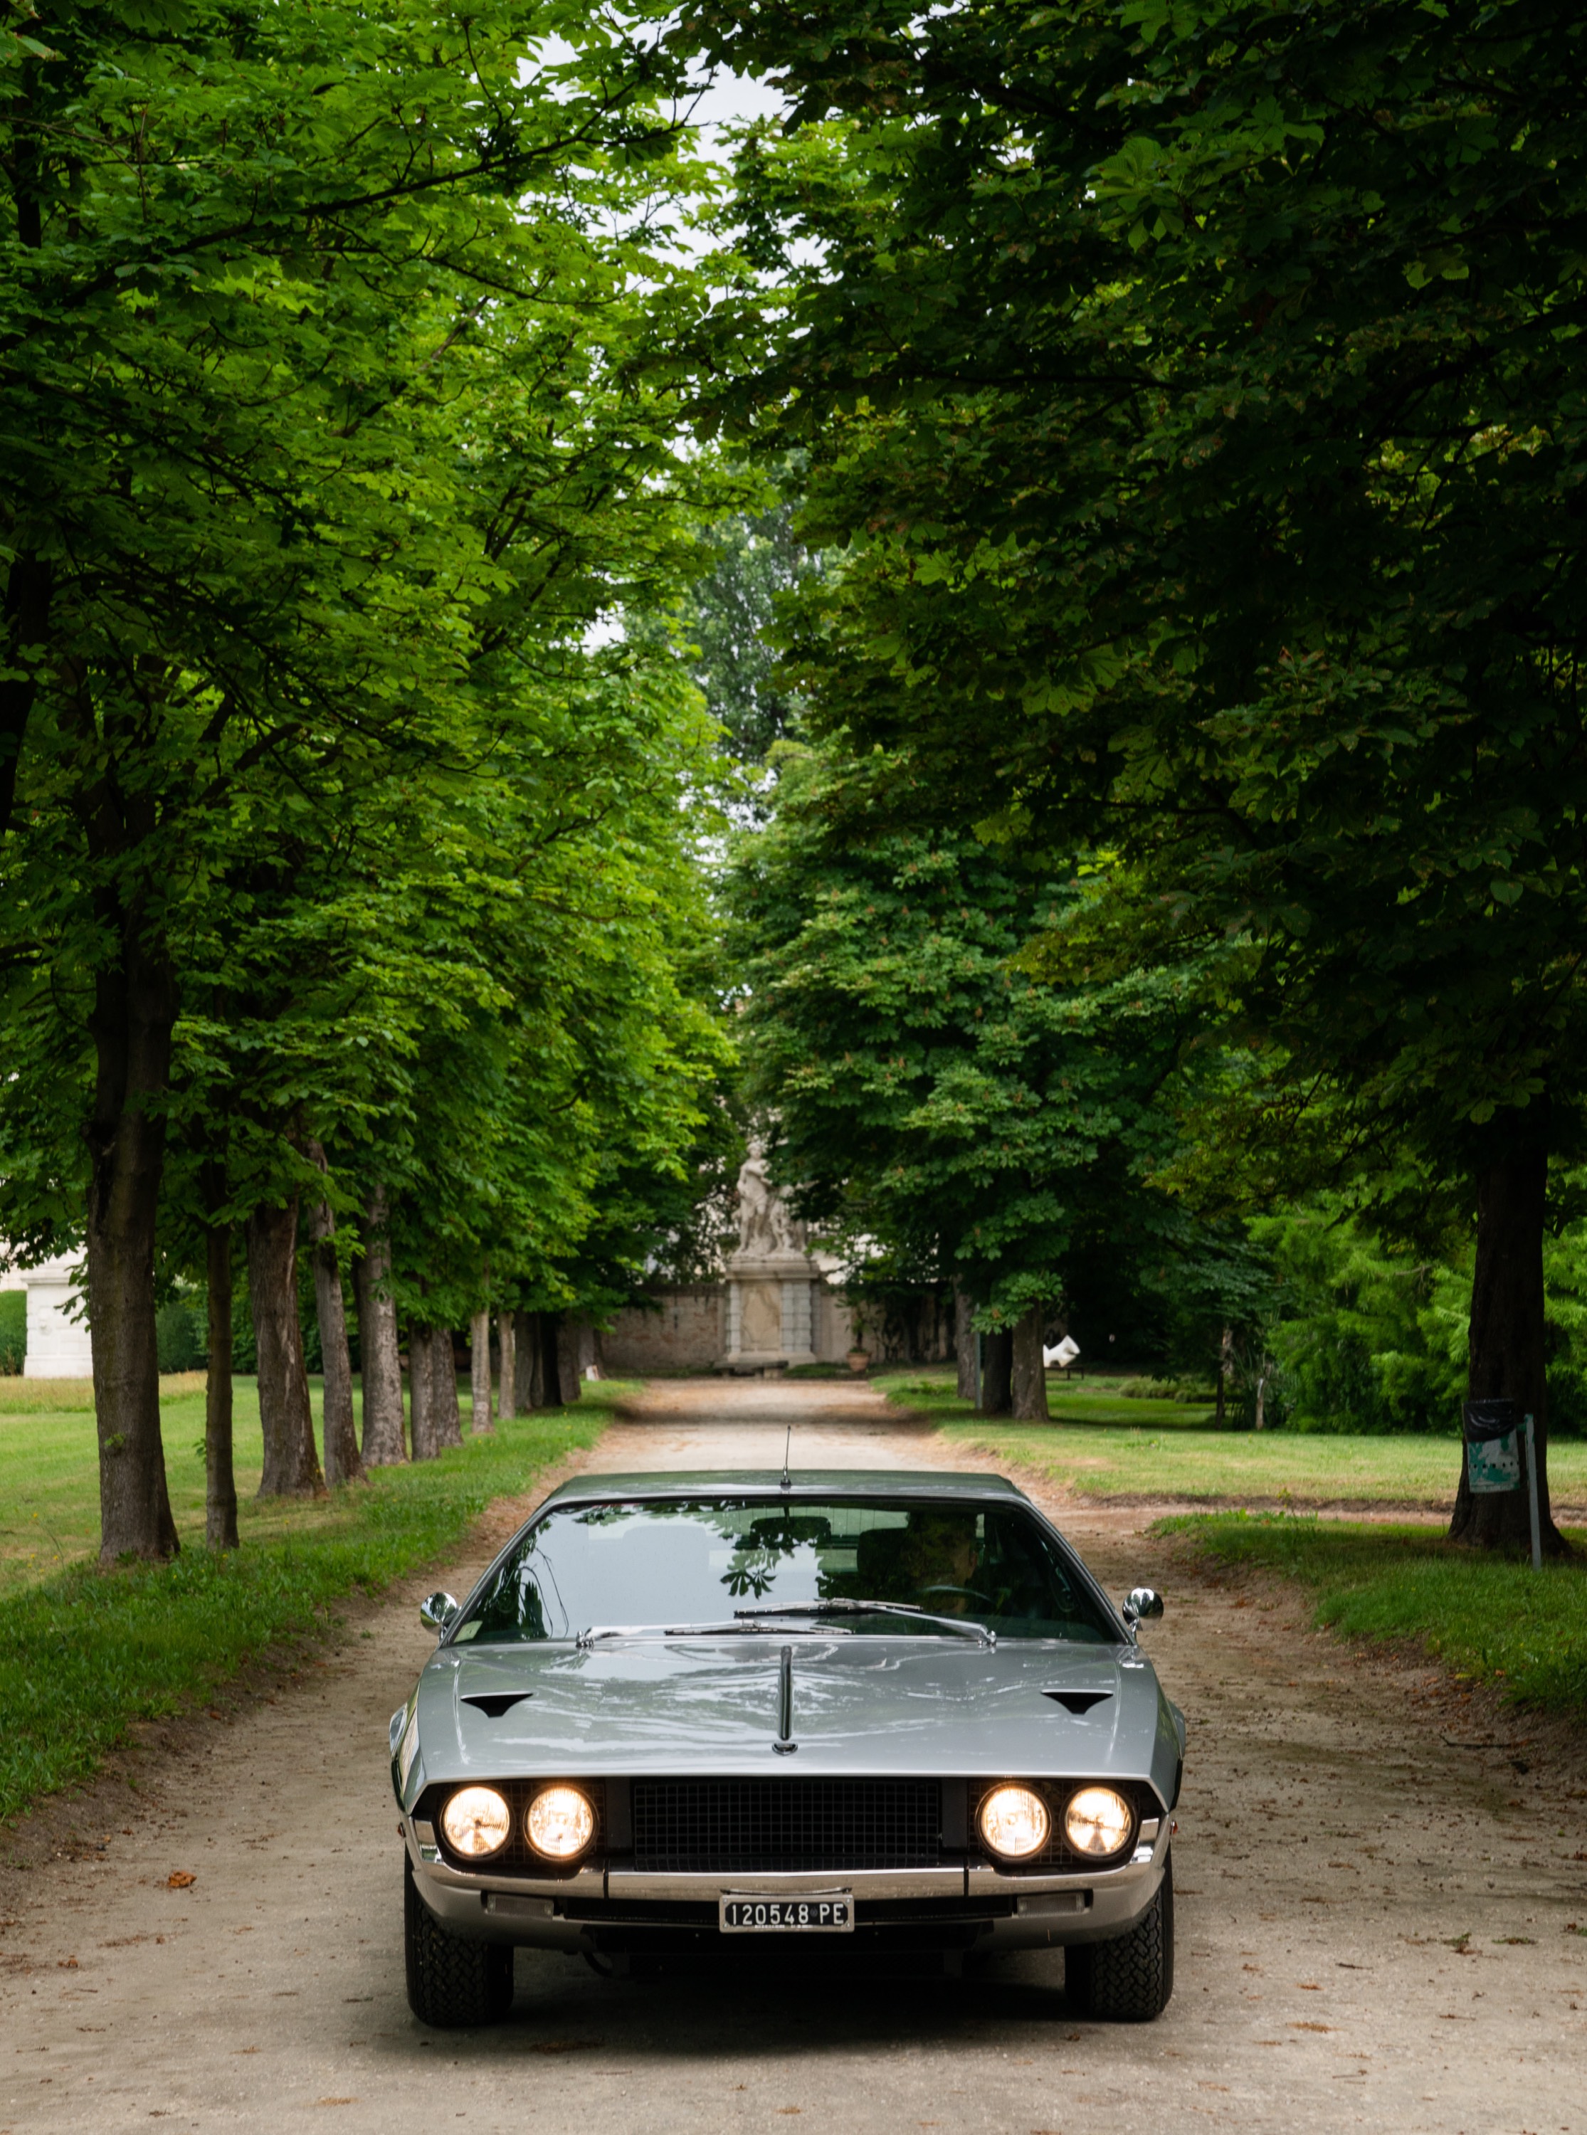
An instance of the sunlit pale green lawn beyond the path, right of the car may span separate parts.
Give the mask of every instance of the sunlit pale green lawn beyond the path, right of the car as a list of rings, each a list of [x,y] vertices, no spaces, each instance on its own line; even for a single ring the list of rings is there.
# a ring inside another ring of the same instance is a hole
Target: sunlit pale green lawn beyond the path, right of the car
[[[1211,1430],[1211,1409],[1128,1401],[1106,1379],[1049,1381],[1053,1422],[1010,1424],[959,1401],[950,1371],[916,1366],[874,1377],[889,1401],[933,1418],[963,1448],[965,1467],[1019,1462],[1098,1497],[1448,1507],[1461,1473],[1455,1433]],[[1559,1503],[1587,1503],[1587,1441],[1557,1439],[1549,1477]]]

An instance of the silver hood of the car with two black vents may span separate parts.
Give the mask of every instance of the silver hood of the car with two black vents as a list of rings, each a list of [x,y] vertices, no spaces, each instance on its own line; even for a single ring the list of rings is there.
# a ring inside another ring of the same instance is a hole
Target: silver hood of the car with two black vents
[[[771,1749],[784,1644],[795,1757]],[[1134,1646],[980,1646],[916,1633],[442,1646],[417,1704],[425,1785],[645,1772],[1027,1774],[1143,1778],[1170,1800],[1183,1753],[1156,1670]]]

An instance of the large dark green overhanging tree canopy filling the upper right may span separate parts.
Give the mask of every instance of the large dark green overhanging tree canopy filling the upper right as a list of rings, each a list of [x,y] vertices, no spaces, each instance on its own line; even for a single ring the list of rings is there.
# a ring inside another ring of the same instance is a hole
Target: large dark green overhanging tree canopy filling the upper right
[[[1273,1140],[1476,1213],[1472,1392],[1542,1418],[1585,1057],[1576,11],[707,0],[681,34],[803,122],[739,160],[782,275],[728,316],[777,346],[709,418],[807,442],[846,549],[812,719],[961,822],[1126,854],[1228,956]],[[1457,1531],[1514,1516],[1463,1490]]]

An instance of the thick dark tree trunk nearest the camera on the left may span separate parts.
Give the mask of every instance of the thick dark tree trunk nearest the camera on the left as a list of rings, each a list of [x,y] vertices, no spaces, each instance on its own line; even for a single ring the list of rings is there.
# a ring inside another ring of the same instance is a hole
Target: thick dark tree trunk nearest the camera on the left
[[[85,1140],[88,1332],[94,1354],[103,1565],[175,1556],[177,1527],[160,1441],[154,1341],[154,1223],[164,1174],[175,976],[122,918],[120,959],[94,980],[94,1104]]]

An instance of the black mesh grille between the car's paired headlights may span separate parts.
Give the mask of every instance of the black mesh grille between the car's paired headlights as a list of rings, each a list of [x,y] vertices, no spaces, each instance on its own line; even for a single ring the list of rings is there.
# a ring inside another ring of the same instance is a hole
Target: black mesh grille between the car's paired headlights
[[[637,1778],[634,1868],[775,1875],[936,1868],[936,1778]]]

